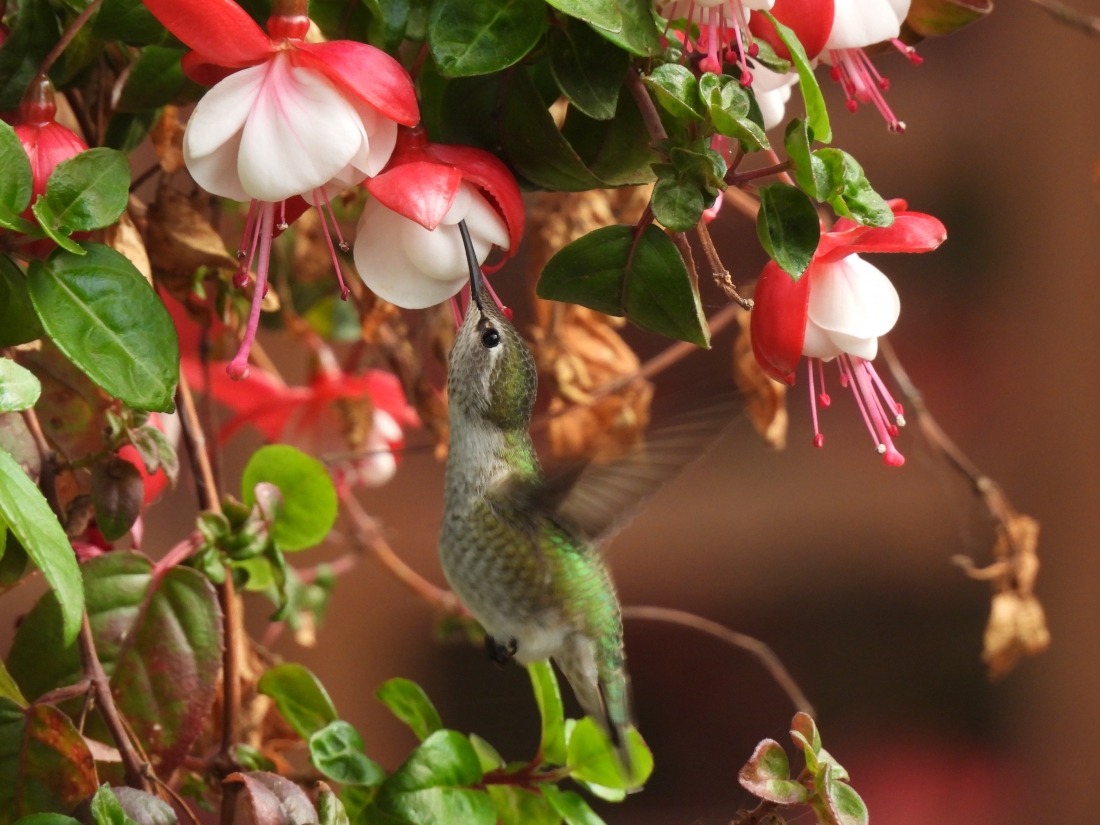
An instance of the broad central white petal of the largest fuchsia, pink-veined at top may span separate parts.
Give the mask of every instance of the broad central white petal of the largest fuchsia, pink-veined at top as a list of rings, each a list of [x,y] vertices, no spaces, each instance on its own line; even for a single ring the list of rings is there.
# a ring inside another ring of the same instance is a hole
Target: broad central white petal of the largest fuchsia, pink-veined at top
[[[244,124],[241,185],[257,200],[306,195],[340,172],[362,139],[359,113],[324,76],[276,56]]]

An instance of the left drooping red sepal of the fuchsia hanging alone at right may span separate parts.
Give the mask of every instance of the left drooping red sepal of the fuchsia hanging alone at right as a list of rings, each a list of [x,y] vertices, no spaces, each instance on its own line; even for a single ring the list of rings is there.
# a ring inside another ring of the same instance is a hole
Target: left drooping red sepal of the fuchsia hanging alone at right
[[[779,264],[769,261],[752,293],[752,354],[768,375],[784,384],[794,383],[794,367],[802,358],[812,275],[813,264],[792,280]]]

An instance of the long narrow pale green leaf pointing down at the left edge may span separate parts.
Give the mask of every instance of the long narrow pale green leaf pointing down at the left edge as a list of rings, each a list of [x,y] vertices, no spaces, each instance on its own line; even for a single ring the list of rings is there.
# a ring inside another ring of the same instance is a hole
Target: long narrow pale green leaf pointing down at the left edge
[[[42,493],[3,450],[0,450],[0,518],[61,598],[64,627],[59,635],[65,645],[70,644],[80,630],[84,614],[76,554]]]

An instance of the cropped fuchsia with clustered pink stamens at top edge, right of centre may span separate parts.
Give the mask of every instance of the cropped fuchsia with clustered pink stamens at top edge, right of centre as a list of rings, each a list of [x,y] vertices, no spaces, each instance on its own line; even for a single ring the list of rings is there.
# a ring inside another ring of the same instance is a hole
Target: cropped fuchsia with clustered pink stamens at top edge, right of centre
[[[703,72],[722,74],[723,63],[740,67],[743,86],[752,82],[748,59],[756,57],[759,48],[752,43],[749,31],[750,9],[768,10],[776,0],[671,0],[658,2],[657,13],[669,21],[686,20],[698,28],[698,37],[683,36],[684,57],[702,54]],[[666,29],[668,34],[668,29]]]

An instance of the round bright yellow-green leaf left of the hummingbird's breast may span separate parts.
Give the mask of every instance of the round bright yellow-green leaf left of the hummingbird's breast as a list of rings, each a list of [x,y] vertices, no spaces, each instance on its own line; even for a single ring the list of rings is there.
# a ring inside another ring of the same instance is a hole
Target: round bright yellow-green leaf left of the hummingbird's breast
[[[321,462],[286,444],[262,447],[252,454],[241,479],[246,507],[255,504],[261,482],[274,484],[283,494],[272,529],[280,550],[305,550],[324,540],[337,520],[337,490]]]

